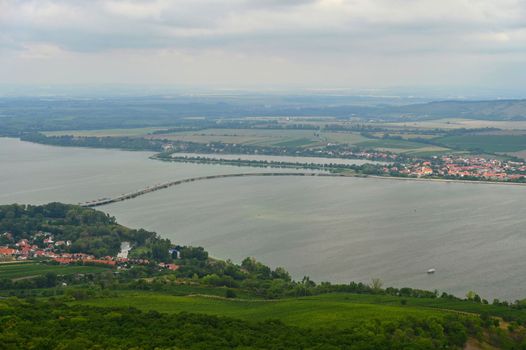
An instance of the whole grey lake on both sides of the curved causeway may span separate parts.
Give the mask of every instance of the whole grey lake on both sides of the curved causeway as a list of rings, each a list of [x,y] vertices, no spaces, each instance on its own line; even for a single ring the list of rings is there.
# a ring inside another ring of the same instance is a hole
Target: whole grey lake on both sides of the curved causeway
[[[149,153],[0,139],[0,202],[82,202],[177,178],[265,171]],[[274,171],[274,170],[273,170]],[[289,170],[290,171],[290,170]],[[526,297],[526,187],[365,178],[188,183],[100,207],[219,258],[254,256],[296,278]],[[435,268],[434,275],[426,274]]]

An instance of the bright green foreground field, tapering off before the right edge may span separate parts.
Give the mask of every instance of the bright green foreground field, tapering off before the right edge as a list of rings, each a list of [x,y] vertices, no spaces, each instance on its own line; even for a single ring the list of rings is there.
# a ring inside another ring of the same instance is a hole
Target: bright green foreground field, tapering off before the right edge
[[[97,298],[76,303],[92,306],[135,307],[140,310],[178,313],[193,312],[220,315],[250,321],[279,319],[300,327],[346,328],[366,320],[397,321],[407,316],[415,318],[441,317],[451,311],[384,302],[381,296],[357,294],[326,294],[280,300],[225,299],[213,296],[173,296],[153,292],[120,292],[118,297]]]

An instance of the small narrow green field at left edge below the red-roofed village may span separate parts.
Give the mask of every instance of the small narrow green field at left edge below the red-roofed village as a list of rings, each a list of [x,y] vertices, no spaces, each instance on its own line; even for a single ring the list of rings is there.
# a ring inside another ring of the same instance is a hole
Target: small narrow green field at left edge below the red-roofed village
[[[96,273],[108,270],[102,266],[81,265],[48,265],[44,263],[12,263],[0,264],[0,279],[20,279],[45,275],[54,272],[58,275],[70,275],[75,273]]]

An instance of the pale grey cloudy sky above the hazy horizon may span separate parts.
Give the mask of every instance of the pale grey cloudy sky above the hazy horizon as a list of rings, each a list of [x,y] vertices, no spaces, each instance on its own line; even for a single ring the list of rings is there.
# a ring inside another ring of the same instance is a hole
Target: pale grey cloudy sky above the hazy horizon
[[[524,0],[0,0],[3,84],[520,89]]]

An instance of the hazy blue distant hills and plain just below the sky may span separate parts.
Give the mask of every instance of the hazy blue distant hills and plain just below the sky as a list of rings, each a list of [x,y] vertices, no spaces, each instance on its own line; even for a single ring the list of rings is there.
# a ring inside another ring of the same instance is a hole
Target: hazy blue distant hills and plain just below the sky
[[[413,100],[414,101],[414,100]],[[421,101],[421,100],[420,100]],[[526,100],[436,101],[402,104],[407,100],[363,101],[282,97],[268,104],[266,99],[226,100],[217,98],[159,96],[113,97],[108,99],[0,98],[0,134],[21,131],[85,130],[122,127],[152,127],[183,123],[188,117],[243,118],[253,116],[359,117],[366,120],[426,120],[466,118],[484,120],[526,120]],[[185,123],[188,123],[186,121]]]

